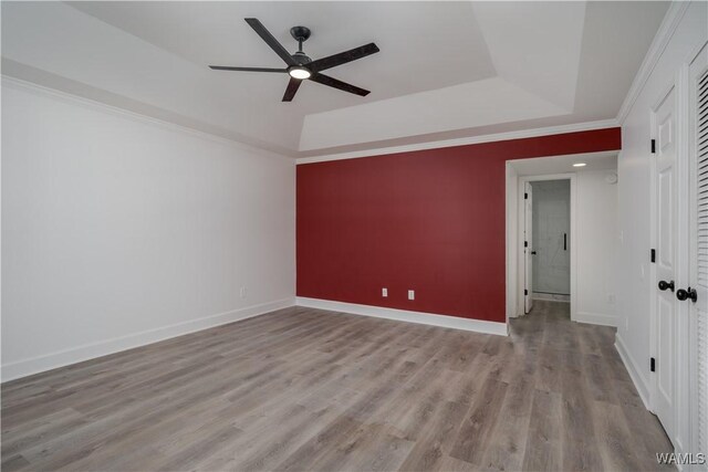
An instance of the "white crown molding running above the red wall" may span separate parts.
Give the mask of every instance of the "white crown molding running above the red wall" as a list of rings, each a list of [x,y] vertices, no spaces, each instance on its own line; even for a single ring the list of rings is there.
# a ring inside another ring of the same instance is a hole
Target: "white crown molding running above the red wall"
[[[466,146],[481,143],[493,143],[510,139],[533,138],[539,136],[559,135],[564,133],[590,132],[594,129],[614,128],[620,126],[615,118],[596,122],[574,123],[570,125],[549,126],[544,128],[522,129],[519,132],[496,133],[466,138],[445,139],[437,141],[417,143],[405,146],[391,146],[375,149],[364,149],[351,153],[330,154],[325,156],[301,157],[295,160],[298,165],[324,162],[327,160],[356,159],[360,157],[382,156],[386,154],[410,153],[415,150],[439,149],[455,146]]]

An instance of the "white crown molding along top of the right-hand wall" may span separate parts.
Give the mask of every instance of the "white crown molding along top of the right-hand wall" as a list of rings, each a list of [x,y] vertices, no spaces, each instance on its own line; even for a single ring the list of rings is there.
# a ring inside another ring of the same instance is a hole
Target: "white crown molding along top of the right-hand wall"
[[[634,106],[634,103],[638,98],[642,90],[646,85],[646,82],[649,80],[654,67],[659,61],[659,57],[666,50],[668,42],[671,36],[676,32],[678,24],[680,23],[686,10],[690,6],[690,1],[674,1],[668,8],[666,15],[664,15],[664,20],[659,25],[654,40],[652,41],[652,45],[649,45],[649,50],[644,56],[644,61],[642,61],[642,65],[637,71],[637,74],[634,76],[634,81],[632,82],[632,86],[629,87],[629,92],[624,98],[622,106],[620,107],[620,112],[617,113],[617,123],[622,125],[624,120],[627,118],[629,111]]]

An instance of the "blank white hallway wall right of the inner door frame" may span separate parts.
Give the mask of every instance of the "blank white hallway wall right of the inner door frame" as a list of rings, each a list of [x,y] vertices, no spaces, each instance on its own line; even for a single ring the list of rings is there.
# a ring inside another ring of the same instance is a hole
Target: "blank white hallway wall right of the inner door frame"
[[[577,296],[575,319],[616,326],[617,186],[611,170],[580,171],[575,178]]]

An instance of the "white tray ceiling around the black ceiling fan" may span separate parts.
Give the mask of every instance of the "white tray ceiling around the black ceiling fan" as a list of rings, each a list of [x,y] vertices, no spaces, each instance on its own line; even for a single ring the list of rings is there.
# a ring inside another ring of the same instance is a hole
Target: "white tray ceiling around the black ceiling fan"
[[[667,2],[2,2],[2,73],[293,157],[614,118]],[[368,42],[327,71],[372,93],[287,75],[243,21],[295,50]]]

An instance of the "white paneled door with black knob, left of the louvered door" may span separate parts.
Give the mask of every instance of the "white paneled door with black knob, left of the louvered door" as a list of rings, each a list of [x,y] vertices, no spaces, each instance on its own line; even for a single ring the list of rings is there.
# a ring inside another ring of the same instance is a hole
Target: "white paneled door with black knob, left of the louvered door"
[[[677,188],[676,188],[676,93],[674,88],[664,97],[653,116],[655,139],[654,188],[656,207],[654,214],[656,234],[656,352],[655,352],[655,413],[669,439],[675,432],[676,373],[676,242],[677,242]]]

